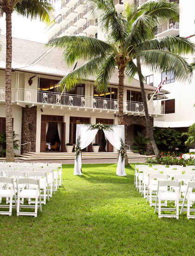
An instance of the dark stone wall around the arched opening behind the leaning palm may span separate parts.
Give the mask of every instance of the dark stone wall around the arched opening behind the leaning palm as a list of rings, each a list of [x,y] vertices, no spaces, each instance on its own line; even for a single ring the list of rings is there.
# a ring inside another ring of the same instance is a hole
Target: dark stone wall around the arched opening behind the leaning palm
[[[125,123],[125,138],[126,138],[126,134],[127,134],[127,126],[131,125],[131,124],[137,124],[142,126],[142,133],[143,135],[149,137],[149,134],[147,132],[146,129],[146,119],[145,116],[133,116],[133,115],[124,115],[124,123]],[[152,128],[154,127],[154,119],[152,117],[150,117],[150,123]],[[148,155],[151,155],[153,153],[153,148],[151,143],[149,143],[146,147],[146,152]]]

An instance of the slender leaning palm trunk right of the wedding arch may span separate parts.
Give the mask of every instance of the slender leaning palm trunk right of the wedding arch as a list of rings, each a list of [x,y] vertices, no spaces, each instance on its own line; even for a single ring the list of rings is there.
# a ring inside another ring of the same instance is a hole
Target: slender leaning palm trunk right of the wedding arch
[[[137,61],[137,68],[140,70],[140,73],[141,73],[142,69],[141,69],[140,60],[137,58],[136,61]],[[150,142],[152,144],[152,148],[155,152],[155,155],[157,157],[160,157],[160,153],[159,153],[158,147],[156,145],[156,141],[154,139],[153,128],[151,127],[151,124],[150,124],[150,116],[148,113],[148,104],[146,101],[146,94],[145,94],[144,85],[143,85],[143,78],[140,74],[139,74],[139,82],[140,82],[141,94],[142,94],[142,99],[143,99],[143,107],[144,107],[145,118],[146,118],[146,129],[148,131],[148,134],[150,137]]]

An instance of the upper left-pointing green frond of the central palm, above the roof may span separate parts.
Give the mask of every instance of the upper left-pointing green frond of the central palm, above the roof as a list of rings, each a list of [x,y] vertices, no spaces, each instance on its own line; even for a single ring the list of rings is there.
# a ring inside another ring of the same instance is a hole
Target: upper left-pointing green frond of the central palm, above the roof
[[[109,43],[87,36],[63,36],[50,40],[46,45],[64,48],[63,55],[68,65],[72,65],[76,60],[88,61],[99,55],[113,53]]]

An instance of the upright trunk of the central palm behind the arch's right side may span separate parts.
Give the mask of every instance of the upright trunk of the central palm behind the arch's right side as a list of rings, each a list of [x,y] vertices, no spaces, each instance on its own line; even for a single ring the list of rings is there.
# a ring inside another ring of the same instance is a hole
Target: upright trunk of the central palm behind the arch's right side
[[[118,71],[118,124],[124,124],[124,115],[123,115],[123,91],[124,91],[124,68],[119,69]],[[125,136],[126,142],[126,136]],[[125,154],[125,164],[128,164],[127,153]]]

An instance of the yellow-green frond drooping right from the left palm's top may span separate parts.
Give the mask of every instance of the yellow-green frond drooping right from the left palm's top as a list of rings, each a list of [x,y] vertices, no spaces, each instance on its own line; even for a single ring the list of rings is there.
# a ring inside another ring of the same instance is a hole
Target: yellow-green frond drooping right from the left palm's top
[[[15,11],[27,18],[40,18],[41,21],[49,24],[53,18],[54,8],[48,0],[22,0],[17,1]]]

